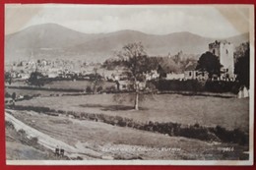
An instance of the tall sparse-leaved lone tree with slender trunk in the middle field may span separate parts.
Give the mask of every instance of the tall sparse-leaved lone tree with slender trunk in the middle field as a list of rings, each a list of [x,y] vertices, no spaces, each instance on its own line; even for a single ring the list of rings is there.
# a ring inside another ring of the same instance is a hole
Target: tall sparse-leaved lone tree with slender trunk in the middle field
[[[144,46],[139,43],[129,43],[118,53],[125,68],[124,75],[132,85],[134,93],[134,109],[139,110],[139,95],[146,89],[146,73],[150,72],[154,66],[147,56]]]

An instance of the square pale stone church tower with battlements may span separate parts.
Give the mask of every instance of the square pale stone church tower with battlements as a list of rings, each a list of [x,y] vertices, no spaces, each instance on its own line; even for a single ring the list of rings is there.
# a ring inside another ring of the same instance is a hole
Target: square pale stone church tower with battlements
[[[220,63],[224,66],[222,72],[228,74],[231,78],[234,73],[234,46],[232,43],[223,41],[215,41],[209,44],[209,51],[219,57]]]

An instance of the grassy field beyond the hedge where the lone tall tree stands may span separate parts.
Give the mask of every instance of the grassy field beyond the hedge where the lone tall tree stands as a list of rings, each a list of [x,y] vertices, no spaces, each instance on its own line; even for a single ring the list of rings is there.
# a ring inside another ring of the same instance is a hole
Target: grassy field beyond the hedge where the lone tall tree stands
[[[122,100],[124,98],[121,98]],[[135,121],[176,122],[186,125],[200,124],[226,129],[249,129],[249,99],[208,96],[160,94],[144,100],[141,110],[132,110],[133,104],[113,100],[113,94],[60,96],[34,98],[17,105],[44,106],[56,110],[103,113],[132,118]]]

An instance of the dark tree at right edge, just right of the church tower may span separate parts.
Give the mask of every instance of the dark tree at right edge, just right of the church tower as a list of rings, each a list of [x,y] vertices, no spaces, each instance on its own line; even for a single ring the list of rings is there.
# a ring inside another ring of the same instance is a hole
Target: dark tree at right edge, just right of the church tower
[[[248,48],[243,56],[237,59],[234,66],[234,74],[237,75],[236,80],[239,85],[245,85],[249,88],[250,85],[250,49]]]

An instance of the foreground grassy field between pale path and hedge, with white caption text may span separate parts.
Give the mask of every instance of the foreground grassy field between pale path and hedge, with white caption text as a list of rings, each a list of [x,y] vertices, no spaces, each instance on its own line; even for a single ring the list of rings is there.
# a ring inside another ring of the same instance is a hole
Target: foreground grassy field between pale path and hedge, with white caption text
[[[65,116],[53,117],[32,111],[19,111],[14,116],[52,138],[76,147],[91,148],[115,159],[237,160],[246,158],[242,152],[247,148],[236,144],[169,137],[100,122],[75,120]],[[223,152],[219,149],[226,146],[233,147],[234,151]]]

